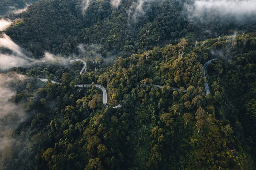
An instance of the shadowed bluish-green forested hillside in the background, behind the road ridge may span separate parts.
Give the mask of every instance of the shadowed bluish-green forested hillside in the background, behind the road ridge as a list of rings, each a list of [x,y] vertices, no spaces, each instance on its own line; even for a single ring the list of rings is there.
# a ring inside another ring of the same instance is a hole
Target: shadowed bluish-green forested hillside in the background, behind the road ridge
[[[247,22],[220,14],[204,14],[200,20],[190,18],[189,11],[185,11],[188,3],[192,2],[129,0],[114,8],[110,0],[99,0],[92,1],[83,12],[79,0],[43,1],[18,15],[22,22],[10,27],[6,34],[32,52],[33,58],[41,58],[46,51],[77,55],[81,44],[85,50],[99,46],[93,50],[102,57],[128,57],[154,46],[176,44],[181,37],[196,41],[233,34],[235,29],[255,30],[253,17],[248,17]]]

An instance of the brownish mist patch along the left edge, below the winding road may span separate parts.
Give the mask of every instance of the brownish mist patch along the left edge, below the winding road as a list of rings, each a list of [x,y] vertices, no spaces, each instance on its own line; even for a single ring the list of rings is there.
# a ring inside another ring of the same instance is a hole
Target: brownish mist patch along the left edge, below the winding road
[[[23,110],[23,104],[15,104],[10,99],[16,91],[9,84],[20,84],[26,77],[16,73],[0,74],[0,169],[8,164],[13,155],[20,155],[28,144],[26,138],[13,137],[17,127],[28,118]],[[15,87],[13,87],[15,88]]]

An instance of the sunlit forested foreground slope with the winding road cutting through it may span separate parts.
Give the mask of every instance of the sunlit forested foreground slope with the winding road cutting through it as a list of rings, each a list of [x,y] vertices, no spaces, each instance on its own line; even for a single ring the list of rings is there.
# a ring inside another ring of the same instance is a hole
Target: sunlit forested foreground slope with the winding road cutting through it
[[[15,136],[26,136],[23,153],[29,155],[11,154],[19,160],[17,164],[5,157],[4,168],[26,169],[26,162],[38,170],[254,169],[255,154],[250,149],[255,144],[250,130],[254,125],[250,124],[255,122],[250,116],[255,113],[251,106],[256,35],[241,36],[205,40],[196,48],[195,43],[183,39],[177,45],[147,51],[147,60],[145,54],[119,58],[113,67],[97,74],[79,75],[80,65],[14,68],[35,77],[12,97],[30,114],[15,131]],[[186,51],[182,59],[181,46]],[[212,94],[205,95],[202,65],[215,57],[220,60],[208,71]],[[244,79],[239,72],[248,76]],[[49,82],[45,86],[36,79],[48,78],[51,73],[60,85]],[[109,108],[102,104],[99,89],[73,86],[91,82],[107,87]],[[170,86],[187,91],[173,91]],[[230,94],[240,95],[243,102],[236,104]],[[122,107],[113,109],[117,103]]]

